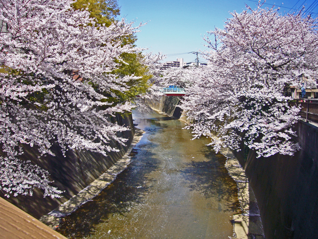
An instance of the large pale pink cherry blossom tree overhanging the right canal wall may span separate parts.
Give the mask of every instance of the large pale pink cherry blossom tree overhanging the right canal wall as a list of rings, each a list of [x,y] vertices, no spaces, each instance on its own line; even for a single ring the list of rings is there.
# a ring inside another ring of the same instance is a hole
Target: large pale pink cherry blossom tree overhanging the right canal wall
[[[204,36],[208,65],[182,73],[190,87],[180,107],[196,120],[195,138],[217,132],[216,151],[239,150],[243,140],[265,157],[300,149],[292,130],[300,109],[289,85],[302,74],[315,82],[318,66],[317,19],[302,12],[247,6]]]

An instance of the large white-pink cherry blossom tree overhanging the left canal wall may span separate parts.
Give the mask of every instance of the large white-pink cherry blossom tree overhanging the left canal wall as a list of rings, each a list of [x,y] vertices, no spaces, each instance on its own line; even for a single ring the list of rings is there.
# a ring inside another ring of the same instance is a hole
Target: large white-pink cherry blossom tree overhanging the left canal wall
[[[140,49],[124,44],[138,31],[124,19],[99,25],[72,0],[1,0],[0,21],[0,190],[6,196],[59,197],[48,172],[19,159],[22,144],[37,147],[41,156],[54,155],[57,142],[67,150],[91,150],[107,155],[117,149],[107,142],[127,139],[128,128],[110,122],[116,112],[130,111],[117,102],[114,91],[128,90],[127,82],[141,76],[114,74],[125,63],[123,53]],[[91,23],[94,24],[91,24]]]

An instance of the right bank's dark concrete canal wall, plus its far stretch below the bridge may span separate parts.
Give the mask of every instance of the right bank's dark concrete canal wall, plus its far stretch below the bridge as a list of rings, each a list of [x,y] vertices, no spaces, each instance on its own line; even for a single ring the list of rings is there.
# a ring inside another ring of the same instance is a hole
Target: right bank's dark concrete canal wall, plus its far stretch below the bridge
[[[180,108],[173,107],[179,101],[175,104],[176,98],[166,96],[151,106],[170,116],[176,109],[179,115]],[[302,148],[294,156],[275,154],[257,158],[253,150],[244,148],[243,142],[241,151],[233,152],[254,191],[267,239],[318,235],[318,127],[299,121],[294,130],[298,135],[295,140]]]

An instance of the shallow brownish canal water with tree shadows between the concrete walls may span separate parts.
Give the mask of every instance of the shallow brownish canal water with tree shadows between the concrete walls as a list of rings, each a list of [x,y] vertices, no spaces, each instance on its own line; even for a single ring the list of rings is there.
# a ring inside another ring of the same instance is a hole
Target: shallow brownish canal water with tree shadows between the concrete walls
[[[191,140],[184,122],[133,113],[146,131],[131,163],[93,200],[62,219],[68,238],[229,238],[237,188],[225,157]]]

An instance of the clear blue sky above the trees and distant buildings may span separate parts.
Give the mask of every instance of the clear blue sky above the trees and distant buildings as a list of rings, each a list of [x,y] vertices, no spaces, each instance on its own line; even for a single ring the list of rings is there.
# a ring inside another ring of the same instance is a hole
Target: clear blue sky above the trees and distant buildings
[[[201,37],[207,31],[213,30],[214,26],[223,28],[226,18],[231,18],[229,12],[242,12],[245,4],[255,8],[257,3],[250,0],[118,0],[118,4],[121,17],[127,21],[148,22],[137,33],[138,47],[148,47],[154,53],[176,54],[206,49]],[[281,11],[287,12],[288,8],[297,9],[302,4],[309,8],[313,4],[311,12],[318,12],[318,6],[315,7],[318,0],[267,0],[264,6],[271,7],[267,4],[282,6]],[[190,62],[194,61],[195,55],[168,56],[165,61],[176,58]]]

